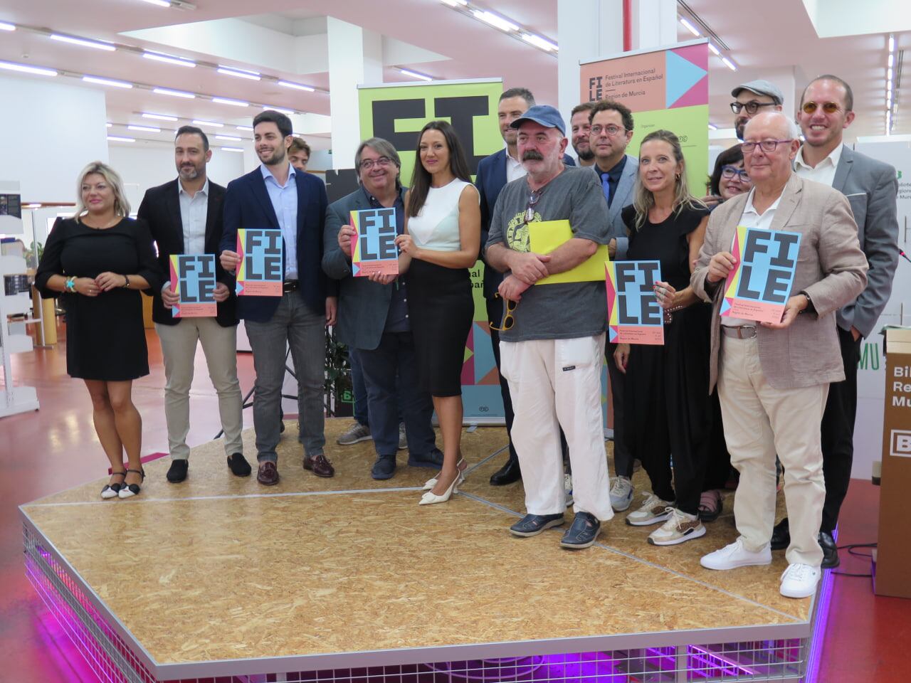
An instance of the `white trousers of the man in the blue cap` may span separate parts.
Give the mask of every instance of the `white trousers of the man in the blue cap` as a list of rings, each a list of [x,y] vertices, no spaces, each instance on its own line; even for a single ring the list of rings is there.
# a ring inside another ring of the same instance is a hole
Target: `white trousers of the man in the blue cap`
[[[614,512],[601,416],[604,335],[530,342],[501,339],[500,353],[516,412],[512,439],[528,514],[557,515],[566,510],[562,426],[572,465],[573,511],[609,520]]]

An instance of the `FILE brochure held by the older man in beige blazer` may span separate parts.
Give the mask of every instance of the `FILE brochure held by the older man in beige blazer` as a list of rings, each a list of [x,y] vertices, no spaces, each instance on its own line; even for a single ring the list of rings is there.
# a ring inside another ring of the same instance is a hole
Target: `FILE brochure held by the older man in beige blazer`
[[[731,253],[737,265],[724,281],[721,315],[781,322],[791,296],[801,233],[737,226]]]

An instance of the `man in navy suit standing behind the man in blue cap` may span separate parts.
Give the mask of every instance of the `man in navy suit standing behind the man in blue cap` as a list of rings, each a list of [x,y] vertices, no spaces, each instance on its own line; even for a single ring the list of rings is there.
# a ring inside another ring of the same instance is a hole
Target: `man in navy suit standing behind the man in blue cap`
[[[516,128],[511,127],[513,121],[521,117],[528,107],[535,106],[535,96],[527,88],[512,87],[505,90],[500,96],[496,114],[499,120],[500,135],[507,146],[494,152],[489,157],[481,159],[477,164],[475,186],[481,195],[481,258],[484,258],[484,245],[490,232],[490,219],[494,215],[496,198],[507,182],[525,177],[525,168],[522,159],[518,158]],[[572,157],[563,155],[563,163],[575,166]],[[492,268],[484,269],[484,299],[487,304],[487,320],[493,325],[499,325],[503,319],[503,300],[496,297],[496,288],[503,281],[503,273]],[[494,360],[496,372],[500,372],[500,335],[499,332],[490,330],[490,342],[494,347]],[[500,377],[500,395],[503,397],[503,411],[506,413],[507,434],[509,435],[509,458],[499,470],[490,477],[490,483],[495,486],[512,484],[522,478],[518,467],[516,447],[512,442],[513,413],[512,400],[509,398],[509,384],[502,374]]]

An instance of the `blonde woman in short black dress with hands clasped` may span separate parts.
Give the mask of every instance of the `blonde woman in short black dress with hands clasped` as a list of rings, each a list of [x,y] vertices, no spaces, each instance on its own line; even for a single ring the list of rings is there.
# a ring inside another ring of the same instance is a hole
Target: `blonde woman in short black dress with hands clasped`
[[[77,189],[76,213],[48,235],[35,284],[45,298],[62,294],[67,373],[86,382],[113,473],[101,497],[128,498],[145,477],[142,418],[130,395],[133,380],[148,374],[139,291],[160,289],[161,277],[146,224],[128,218],[118,174],[95,161],[79,174]]]

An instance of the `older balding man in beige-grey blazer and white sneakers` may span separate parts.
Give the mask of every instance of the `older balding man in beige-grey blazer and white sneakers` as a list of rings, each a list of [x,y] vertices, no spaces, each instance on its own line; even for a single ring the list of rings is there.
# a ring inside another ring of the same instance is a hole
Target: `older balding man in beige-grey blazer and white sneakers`
[[[693,291],[713,303],[710,391],[717,381],[724,437],[741,473],[734,497],[740,536],[703,556],[701,565],[733,569],[772,562],[777,451],[791,518],[789,566],[780,588],[787,597],[812,596],[821,576],[819,424],[829,384],[844,380],[835,311],[864,290],[867,270],[844,195],[793,173],[797,137],[796,125],[780,112],[747,124],[743,160],[753,189],[712,212],[691,278]],[[803,235],[780,322],[757,325],[719,315],[722,283],[736,264],[730,250],[739,225]]]

